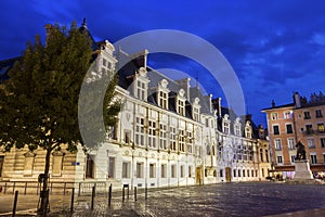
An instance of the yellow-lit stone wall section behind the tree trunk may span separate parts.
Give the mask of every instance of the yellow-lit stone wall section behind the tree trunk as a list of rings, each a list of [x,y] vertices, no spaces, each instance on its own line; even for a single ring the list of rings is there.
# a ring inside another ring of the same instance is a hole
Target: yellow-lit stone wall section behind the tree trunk
[[[82,179],[84,163],[76,161],[76,154],[64,149],[61,152],[53,152],[50,159],[50,175],[52,182],[75,181]],[[2,152],[4,156],[1,181],[36,181],[40,174],[44,173],[46,151],[38,149],[30,152],[28,148],[12,149],[10,152]],[[82,167],[81,169],[79,169]]]

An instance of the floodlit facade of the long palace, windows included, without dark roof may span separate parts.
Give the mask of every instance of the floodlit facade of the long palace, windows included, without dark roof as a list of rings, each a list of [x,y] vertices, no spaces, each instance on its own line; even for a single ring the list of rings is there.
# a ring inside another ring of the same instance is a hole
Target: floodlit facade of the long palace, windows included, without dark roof
[[[110,61],[108,69],[114,72],[114,48],[107,41],[104,48],[106,49],[102,49],[95,60],[96,68],[101,71],[105,59]],[[146,73],[145,67],[140,68],[134,79],[150,82]],[[107,141],[96,149],[84,150],[78,146],[77,153],[69,153],[63,148],[62,151],[52,154],[52,181],[154,188],[260,179],[259,144],[251,135],[243,137],[220,131],[218,119],[221,114],[217,116],[214,111],[200,113],[199,118],[194,119],[178,111],[169,111],[146,102],[146,98],[135,95],[134,87],[134,84],[128,90],[117,87],[118,98],[122,100],[123,106],[116,118],[116,126],[108,131]],[[190,91],[185,92],[188,94]],[[190,95],[182,94],[180,91],[176,99],[193,100]],[[210,98],[202,100],[211,100]],[[211,102],[208,101],[208,104]],[[227,119],[227,116],[221,118]],[[150,123],[155,123],[155,126],[150,126]],[[166,129],[161,129],[161,126],[166,126]],[[139,140],[140,128],[143,142]],[[165,138],[166,148],[161,138]],[[173,141],[176,150],[171,149]],[[180,148],[181,144],[184,145],[183,149]],[[44,154],[42,150],[29,152],[26,149],[12,149],[9,153],[1,153],[4,164],[0,180],[37,180],[39,174],[43,173]],[[263,164],[266,168],[266,163]]]

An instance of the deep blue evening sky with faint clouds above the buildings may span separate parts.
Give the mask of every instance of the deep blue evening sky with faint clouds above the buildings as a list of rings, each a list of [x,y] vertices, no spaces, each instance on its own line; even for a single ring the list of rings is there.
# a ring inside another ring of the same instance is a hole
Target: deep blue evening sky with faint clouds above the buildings
[[[0,60],[22,54],[48,23],[78,25],[87,17],[96,40],[115,42],[151,29],[186,31],[212,43],[239,79],[248,113],[265,125],[263,107],[291,102],[294,91],[325,92],[325,1],[322,0],[10,0],[0,1]],[[155,68],[197,77],[207,93],[223,97],[199,64],[154,54]],[[216,84],[214,84],[216,82]]]

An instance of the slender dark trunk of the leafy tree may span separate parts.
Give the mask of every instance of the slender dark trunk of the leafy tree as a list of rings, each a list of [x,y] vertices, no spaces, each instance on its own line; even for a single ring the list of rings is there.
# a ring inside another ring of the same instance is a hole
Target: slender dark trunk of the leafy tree
[[[50,157],[51,157],[51,151],[50,149],[47,150],[46,155],[46,168],[44,168],[44,180],[43,180],[43,188],[41,196],[41,206],[40,206],[40,213],[43,214],[43,216],[47,216],[48,214],[48,205],[49,205],[49,189],[48,189],[48,181],[49,181],[49,170],[50,170]]]

